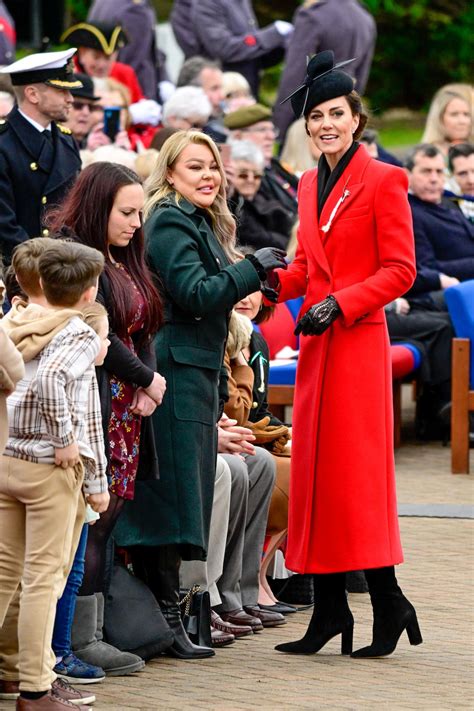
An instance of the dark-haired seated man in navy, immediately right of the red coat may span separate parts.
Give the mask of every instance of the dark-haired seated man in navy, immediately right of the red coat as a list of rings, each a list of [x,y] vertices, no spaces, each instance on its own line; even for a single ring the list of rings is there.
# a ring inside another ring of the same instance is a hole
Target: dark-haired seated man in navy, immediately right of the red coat
[[[443,290],[474,279],[474,225],[443,199],[444,159],[436,146],[415,146],[405,165],[417,268],[406,297],[412,308],[444,310]]]

